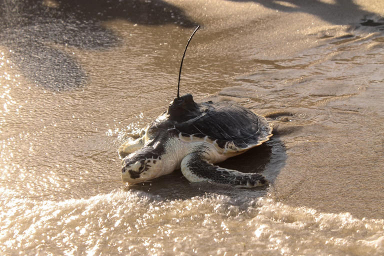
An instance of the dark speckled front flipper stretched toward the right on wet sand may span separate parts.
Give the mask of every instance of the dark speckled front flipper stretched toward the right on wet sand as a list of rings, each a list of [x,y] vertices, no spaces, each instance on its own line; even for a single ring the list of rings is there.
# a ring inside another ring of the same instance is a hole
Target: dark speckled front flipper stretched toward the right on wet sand
[[[259,173],[243,173],[213,165],[201,152],[187,154],[181,161],[181,172],[190,182],[209,181],[239,187],[255,187],[268,183]]]

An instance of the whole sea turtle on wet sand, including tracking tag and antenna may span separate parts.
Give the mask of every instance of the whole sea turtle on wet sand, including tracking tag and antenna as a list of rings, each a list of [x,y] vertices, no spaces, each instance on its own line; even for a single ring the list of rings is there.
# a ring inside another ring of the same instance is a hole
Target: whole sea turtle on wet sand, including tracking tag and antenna
[[[167,111],[142,129],[136,140],[119,147],[122,181],[137,183],[181,168],[191,182],[241,187],[266,184],[262,174],[213,165],[268,140],[272,128],[265,118],[229,102],[196,103],[191,94],[179,96],[178,90],[179,84]]]

